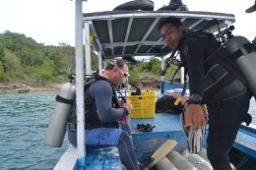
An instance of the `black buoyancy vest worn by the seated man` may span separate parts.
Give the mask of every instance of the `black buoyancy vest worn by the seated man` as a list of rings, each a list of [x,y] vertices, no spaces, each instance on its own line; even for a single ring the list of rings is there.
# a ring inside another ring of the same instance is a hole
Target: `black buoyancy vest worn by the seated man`
[[[93,83],[95,83],[98,80],[102,80],[102,81],[106,81],[109,83],[109,85],[111,85],[111,83],[103,78],[103,77],[95,77],[95,78],[89,78],[85,81],[84,84],[84,92],[85,92],[85,127],[86,129],[95,129],[95,128],[119,128],[118,122],[117,121],[113,121],[113,122],[101,122],[99,117],[98,117],[98,113],[97,113],[97,109],[96,109],[96,99],[93,98],[90,94],[90,87]],[[112,87],[112,105],[116,108],[119,108],[119,102],[114,90],[113,85],[111,85]],[[72,122],[76,124],[76,109],[74,108],[72,111],[72,114],[70,115],[70,117],[68,118],[68,122]]]

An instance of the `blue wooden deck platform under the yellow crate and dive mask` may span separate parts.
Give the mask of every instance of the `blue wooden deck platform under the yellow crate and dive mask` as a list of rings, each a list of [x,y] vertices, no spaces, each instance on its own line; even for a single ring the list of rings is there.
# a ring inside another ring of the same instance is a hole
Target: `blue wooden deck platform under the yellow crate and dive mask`
[[[187,138],[181,131],[179,114],[156,113],[155,118],[129,118],[128,124],[134,142],[135,152],[139,161],[151,157],[155,150],[167,140],[177,142],[174,149],[178,152],[187,148]],[[140,132],[138,124],[156,126],[152,132]]]

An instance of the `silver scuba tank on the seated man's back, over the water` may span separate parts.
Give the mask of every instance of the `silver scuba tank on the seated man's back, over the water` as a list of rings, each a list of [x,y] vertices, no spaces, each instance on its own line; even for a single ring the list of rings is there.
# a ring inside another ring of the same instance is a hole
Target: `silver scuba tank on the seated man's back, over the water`
[[[64,140],[67,118],[76,99],[74,78],[74,75],[69,75],[70,82],[62,85],[59,94],[56,95],[56,105],[44,139],[44,143],[49,146],[60,147]]]

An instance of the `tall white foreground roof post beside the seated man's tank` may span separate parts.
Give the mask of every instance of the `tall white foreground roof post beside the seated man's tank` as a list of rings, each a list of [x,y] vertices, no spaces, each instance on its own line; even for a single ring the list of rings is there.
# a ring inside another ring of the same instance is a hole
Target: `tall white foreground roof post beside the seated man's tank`
[[[83,57],[83,7],[82,0],[75,5],[75,52],[76,52],[76,102],[78,158],[85,160],[85,119],[84,119],[84,57]]]

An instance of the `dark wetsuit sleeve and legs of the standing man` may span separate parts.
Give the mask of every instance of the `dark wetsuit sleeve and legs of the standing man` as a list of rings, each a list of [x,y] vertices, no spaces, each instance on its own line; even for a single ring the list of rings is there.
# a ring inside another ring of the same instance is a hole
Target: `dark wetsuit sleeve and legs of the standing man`
[[[187,38],[180,49],[181,60],[189,74],[190,94],[204,94],[204,54],[209,48],[206,38]],[[249,91],[228,100],[210,102],[207,155],[215,170],[231,170],[228,152],[249,109]]]

